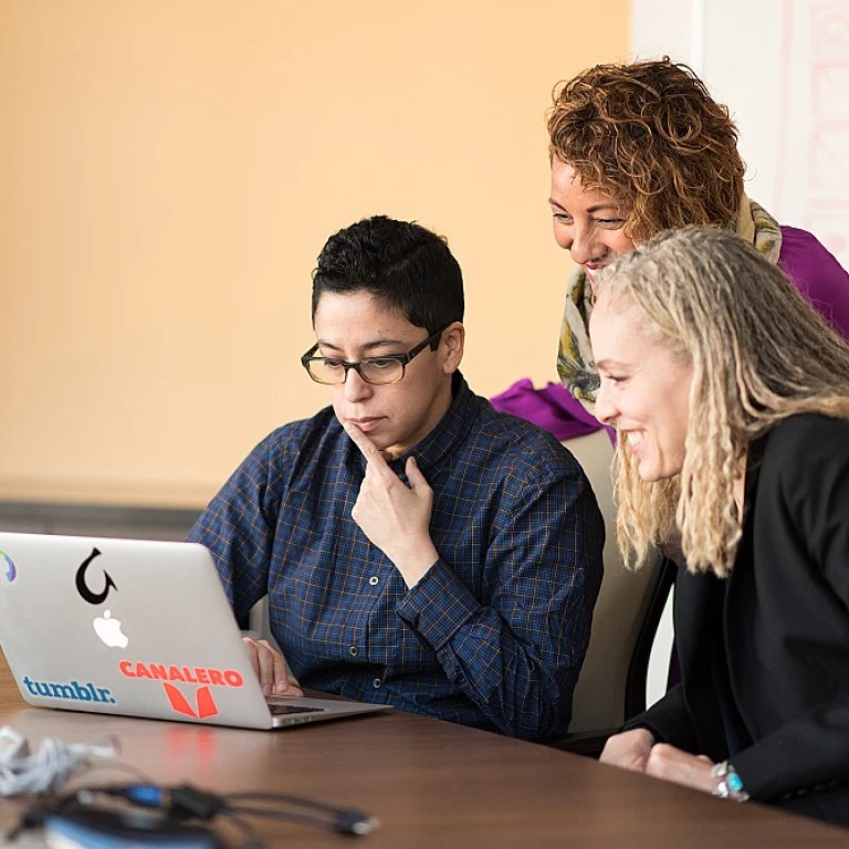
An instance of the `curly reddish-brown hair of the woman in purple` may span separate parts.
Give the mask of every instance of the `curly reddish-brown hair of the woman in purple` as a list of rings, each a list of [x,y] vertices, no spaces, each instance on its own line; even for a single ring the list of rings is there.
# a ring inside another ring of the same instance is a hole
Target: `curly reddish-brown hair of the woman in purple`
[[[669,56],[596,65],[558,83],[553,101],[551,158],[621,203],[636,242],[686,224],[734,226],[745,172],[737,128],[690,67]]]

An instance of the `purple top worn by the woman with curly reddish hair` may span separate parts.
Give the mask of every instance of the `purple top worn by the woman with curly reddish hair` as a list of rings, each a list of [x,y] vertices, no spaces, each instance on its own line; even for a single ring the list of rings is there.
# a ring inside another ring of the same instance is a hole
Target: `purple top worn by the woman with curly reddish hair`
[[[835,331],[849,340],[849,274],[816,235],[795,227],[780,230],[778,268]],[[601,427],[559,384],[534,389],[525,377],[490,400],[496,410],[538,424],[559,440],[591,433]]]

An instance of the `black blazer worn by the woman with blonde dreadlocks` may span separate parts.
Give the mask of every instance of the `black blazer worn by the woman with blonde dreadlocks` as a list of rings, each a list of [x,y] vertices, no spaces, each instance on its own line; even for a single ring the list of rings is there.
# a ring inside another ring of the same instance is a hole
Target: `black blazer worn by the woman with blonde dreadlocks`
[[[753,799],[807,796],[849,825],[849,422],[796,416],[758,440],[744,511],[727,581],[679,574],[681,684],[626,727],[722,761],[736,720]]]

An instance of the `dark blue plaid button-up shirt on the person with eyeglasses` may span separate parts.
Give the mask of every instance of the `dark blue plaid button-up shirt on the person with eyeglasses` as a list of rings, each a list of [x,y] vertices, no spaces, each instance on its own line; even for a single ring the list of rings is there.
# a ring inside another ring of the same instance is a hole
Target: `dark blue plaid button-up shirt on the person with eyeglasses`
[[[459,375],[410,453],[440,554],[411,589],[350,516],[365,461],[329,407],[256,446],[189,538],[211,549],[238,617],[268,594],[303,686],[518,737],[564,731],[601,583],[584,472]],[[405,462],[391,468],[406,481]]]

